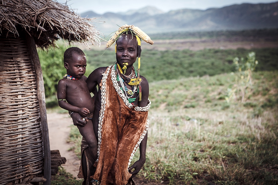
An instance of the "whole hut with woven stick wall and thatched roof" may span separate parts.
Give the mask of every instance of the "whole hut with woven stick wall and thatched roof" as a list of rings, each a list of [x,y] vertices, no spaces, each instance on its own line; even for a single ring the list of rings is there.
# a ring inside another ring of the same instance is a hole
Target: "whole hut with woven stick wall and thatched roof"
[[[0,185],[50,185],[43,76],[36,46],[96,43],[92,19],[52,0],[0,1]],[[58,121],[57,121],[58,122]],[[35,179],[35,180],[34,180]]]

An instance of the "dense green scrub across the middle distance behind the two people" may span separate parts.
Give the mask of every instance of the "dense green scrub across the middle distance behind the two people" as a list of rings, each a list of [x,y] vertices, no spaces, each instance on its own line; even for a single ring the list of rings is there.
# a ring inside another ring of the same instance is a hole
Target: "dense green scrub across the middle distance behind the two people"
[[[43,70],[45,95],[50,97],[57,91],[58,81],[66,73],[63,67],[63,52],[65,46],[60,49],[49,49],[48,52],[39,50],[39,57]],[[253,48],[253,49],[204,49],[200,51],[191,50],[142,50],[140,75],[146,77],[149,82],[163,79],[180,79],[185,77],[197,77],[204,75],[218,75],[235,71],[233,58],[246,57],[250,51],[256,52],[259,64],[257,71],[278,70],[278,47],[277,48]],[[88,76],[94,69],[100,66],[109,66],[116,61],[115,51],[85,50],[87,56]],[[134,64],[135,68],[137,66]],[[137,68],[136,68],[137,69]],[[221,79],[217,84],[223,84]],[[277,83],[276,83],[277,86]],[[270,89],[265,86],[264,94]],[[50,105],[54,106],[54,105]]]

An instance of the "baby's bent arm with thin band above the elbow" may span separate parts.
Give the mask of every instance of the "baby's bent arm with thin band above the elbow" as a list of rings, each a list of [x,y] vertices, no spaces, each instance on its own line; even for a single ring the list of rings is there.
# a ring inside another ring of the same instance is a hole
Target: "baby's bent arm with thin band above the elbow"
[[[58,88],[57,88],[57,98],[58,98],[59,106],[65,110],[70,110],[72,112],[78,112],[83,117],[87,116],[87,114],[90,113],[89,109],[87,109],[85,107],[79,108],[79,107],[73,106],[66,102],[66,100],[65,100],[66,92],[67,92],[66,83],[63,80],[60,80],[58,82]]]

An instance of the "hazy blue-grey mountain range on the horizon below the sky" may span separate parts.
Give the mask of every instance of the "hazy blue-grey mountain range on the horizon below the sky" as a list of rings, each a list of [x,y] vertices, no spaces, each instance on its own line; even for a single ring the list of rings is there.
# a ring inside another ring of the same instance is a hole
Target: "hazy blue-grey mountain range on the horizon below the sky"
[[[136,25],[148,34],[172,31],[242,30],[278,27],[278,2],[235,4],[207,10],[182,9],[167,13],[155,7],[123,13],[96,14],[89,11],[82,17],[101,17],[105,23],[94,23],[106,36],[121,25]]]

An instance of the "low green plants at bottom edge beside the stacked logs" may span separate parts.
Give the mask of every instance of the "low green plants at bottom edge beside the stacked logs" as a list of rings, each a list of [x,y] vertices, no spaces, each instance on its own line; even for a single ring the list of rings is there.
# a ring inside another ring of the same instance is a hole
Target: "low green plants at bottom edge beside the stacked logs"
[[[52,177],[51,185],[81,185],[83,180],[76,180],[72,174],[66,172],[63,167],[59,167],[58,174]]]

